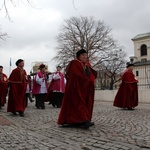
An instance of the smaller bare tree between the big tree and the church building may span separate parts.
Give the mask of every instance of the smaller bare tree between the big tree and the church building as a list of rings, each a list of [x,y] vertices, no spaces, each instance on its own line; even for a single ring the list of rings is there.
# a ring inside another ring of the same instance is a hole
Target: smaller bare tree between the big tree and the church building
[[[101,64],[99,72],[103,78],[101,87],[113,90],[113,85],[120,81],[123,70],[126,64],[126,53],[122,49],[110,52],[110,58]],[[106,81],[108,81],[106,84]],[[106,87],[109,86],[109,87]]]

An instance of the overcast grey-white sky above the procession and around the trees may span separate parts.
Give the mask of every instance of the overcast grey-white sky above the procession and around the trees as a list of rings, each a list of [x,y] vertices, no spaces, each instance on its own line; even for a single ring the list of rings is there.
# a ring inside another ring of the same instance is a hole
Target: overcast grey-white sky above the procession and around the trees
[[[32,4],[35,8],[27,3],[16,3],[16,7],[7,3],[11,22],[0,12],[0,32],[9,35],[6,42],[0,41],[0,65],[7,75],[10,58],[11,70],[21,58],[28,74],[35,61],[46,62],[49,71],[54,71],[51,59],[56,55],[56,36],[64,19],[72,16],[104,21],[128,57],[134,55],[131,39],[150,32],[150,0],[32,0]]]

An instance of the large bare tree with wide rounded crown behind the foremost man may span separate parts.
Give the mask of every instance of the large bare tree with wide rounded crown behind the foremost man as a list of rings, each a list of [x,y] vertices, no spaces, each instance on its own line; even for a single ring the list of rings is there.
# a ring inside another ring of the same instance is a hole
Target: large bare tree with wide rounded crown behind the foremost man
[[[116,41],[110,35],[111,29],[103,21],[93,17],[71,17],[64,21],[58,35],[57,56],[59,64],[67,64],[75,58],[79,49],[86,49],[93,67],[108,59],[110,51],[116,48]]]

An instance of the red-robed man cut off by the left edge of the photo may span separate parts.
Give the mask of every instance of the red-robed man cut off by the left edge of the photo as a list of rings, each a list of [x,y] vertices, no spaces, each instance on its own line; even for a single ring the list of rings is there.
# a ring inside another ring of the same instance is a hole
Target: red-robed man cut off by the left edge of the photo
[[[0,109],[6,103],[7,88],[8,79],[6,74],[3,73],[3,66],[0,66]]]

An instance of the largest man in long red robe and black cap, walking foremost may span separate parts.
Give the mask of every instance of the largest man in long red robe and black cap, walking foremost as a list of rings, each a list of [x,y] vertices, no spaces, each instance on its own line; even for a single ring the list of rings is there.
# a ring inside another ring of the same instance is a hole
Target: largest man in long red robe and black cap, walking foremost
[[[91,119],[97,72],[87,62],[87,52],[84,49],[79,50],[76,56],[66,68],[67,83],[58,124],[79,125],[88,129],[94,125]]]

